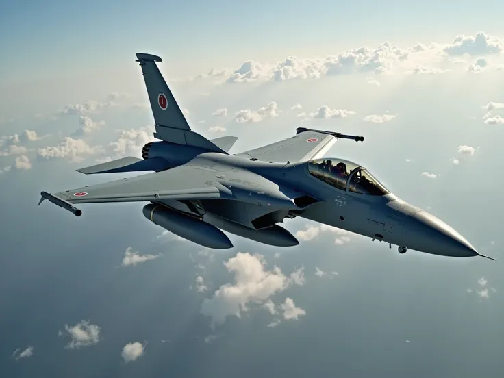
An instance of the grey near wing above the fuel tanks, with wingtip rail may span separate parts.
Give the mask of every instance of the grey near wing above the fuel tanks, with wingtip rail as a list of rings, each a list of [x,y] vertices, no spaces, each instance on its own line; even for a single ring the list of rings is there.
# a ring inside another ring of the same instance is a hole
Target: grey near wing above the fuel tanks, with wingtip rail
[[[71,204],[225,198],[225,192],[221,192],[218,186],[220,184],[215,181],[214,172],[199,166],[178,166],[168,171],[148,173],[64,192],[53,194],[42,192],[40,203],[48,199],[55,205],[80,216],[80,210]]]

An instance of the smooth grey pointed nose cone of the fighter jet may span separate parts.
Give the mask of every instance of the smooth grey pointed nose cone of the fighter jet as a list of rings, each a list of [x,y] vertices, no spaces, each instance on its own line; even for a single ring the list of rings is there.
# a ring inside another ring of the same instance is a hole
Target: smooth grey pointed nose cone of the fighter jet
[[[403,229],[406,247],[434,255],[472,257],[475,247],[442,220],[423,210],[409,216]]]

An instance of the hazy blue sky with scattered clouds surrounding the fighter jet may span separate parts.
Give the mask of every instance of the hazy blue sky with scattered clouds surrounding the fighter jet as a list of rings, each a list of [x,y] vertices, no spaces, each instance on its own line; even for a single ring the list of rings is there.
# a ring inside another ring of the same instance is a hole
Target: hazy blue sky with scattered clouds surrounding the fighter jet
[[[499,377],[504,5],[0,3],[1,377]],[[297,247],[205,249],[143,203],[43,203],[131,174],[153,116],[135,53],[231,153],[297,127],[483,254],[408,251],[295,218]],[[231,293],[231,294],[230,294]]]

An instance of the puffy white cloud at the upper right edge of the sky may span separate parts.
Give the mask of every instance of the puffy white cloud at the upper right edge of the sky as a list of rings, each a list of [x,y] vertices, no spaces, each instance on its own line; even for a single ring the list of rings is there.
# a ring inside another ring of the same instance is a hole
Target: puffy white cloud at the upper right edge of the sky
[[[503,41],[498,37],[478,33],[476,36],[457,36],[451,45],[444,48],[448,55],[484,55],[499,53],[503,50]]]

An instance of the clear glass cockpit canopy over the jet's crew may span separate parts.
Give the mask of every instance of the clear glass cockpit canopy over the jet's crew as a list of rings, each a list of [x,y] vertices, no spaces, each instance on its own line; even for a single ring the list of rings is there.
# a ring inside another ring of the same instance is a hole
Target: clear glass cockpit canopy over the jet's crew
[[[349,192],[359,194],[383,196],[390,193],[366,168],[349,160],[330,157],[312,160],[308,162],[308,171],[340,190],[346,190],[348,186]]]

